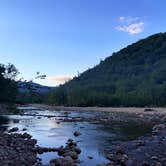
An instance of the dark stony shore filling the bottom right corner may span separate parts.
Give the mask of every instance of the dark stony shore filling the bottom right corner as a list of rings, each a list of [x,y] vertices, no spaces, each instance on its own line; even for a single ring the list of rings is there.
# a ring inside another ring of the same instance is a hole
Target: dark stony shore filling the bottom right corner
[[[116,142],[106,152],[107,164],[98,166],[165,166],[166,125],[153,126],[151,136],[137,140]]]

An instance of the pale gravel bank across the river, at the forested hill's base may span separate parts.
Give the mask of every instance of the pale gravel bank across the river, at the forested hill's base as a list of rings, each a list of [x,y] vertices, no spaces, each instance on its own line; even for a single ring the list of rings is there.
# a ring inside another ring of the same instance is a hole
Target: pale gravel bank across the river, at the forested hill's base
[[[29,104],[29,107],[36,107],[41,110],[59,110],[66,111],[66,114],[72,111],[102,113],[100,116],[73,117],[64,119],[65,121],[89,121],[101,123],[128,122],[135,121],[140,123],[152,123],[153,125],[166,121],[166,108],[136,108],[136,107],[64,107],[50,106],[43,104]]]

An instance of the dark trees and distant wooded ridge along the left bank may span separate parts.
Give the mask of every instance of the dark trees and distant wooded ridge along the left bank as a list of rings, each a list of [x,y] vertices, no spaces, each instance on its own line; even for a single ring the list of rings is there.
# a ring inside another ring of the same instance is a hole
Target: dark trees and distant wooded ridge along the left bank
[[[41,103],[47,98],[49,87],[44,87],[32,81],[18,81],[19,72],[12,64],[0,64],[0,103],[7,103],[10,110],[15,110],[14,103]],[[46,76],[37,72],[35,79],[44,79]],[[44,88],[45,91],[41,91]],[[41,89],[41,90],[40,90]],[[40,90],[40,91],[39,91]]]

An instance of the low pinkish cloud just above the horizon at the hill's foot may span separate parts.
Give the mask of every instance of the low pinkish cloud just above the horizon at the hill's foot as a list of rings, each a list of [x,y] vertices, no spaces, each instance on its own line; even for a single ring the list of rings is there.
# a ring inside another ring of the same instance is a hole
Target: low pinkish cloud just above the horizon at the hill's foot
[[[74,76],[71,75],[58,75],[58,76],[49,76],[47,79],[52,83],[57,84],[64,84],[65,82],[71,80]]]

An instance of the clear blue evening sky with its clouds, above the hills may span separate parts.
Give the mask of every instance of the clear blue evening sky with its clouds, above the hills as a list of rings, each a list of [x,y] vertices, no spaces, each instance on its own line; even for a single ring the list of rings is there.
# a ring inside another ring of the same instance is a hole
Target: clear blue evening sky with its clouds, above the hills
[[[128,44],[166,31],[165,0],[0,0],[0,63],[56,86]]]

